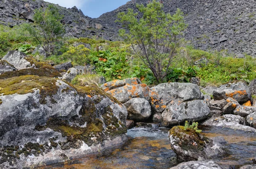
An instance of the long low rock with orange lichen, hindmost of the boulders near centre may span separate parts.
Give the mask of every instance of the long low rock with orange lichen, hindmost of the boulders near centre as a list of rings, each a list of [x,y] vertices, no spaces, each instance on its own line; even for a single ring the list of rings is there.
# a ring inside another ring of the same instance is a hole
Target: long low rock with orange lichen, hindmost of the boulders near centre
[[[113,89],[116,89],[118,87],[123,87],[125,85],[134,86],[134,85],[139,85],[139,84],[141,84],[140,79],[138,79],[138,78],[129,78],[129,79],[124,79],[124,80],[113,80],[113,81],[107,82],[107,83],[103,84],[101,86],[101,88],[105,92],[107,92],[109,90],[113,90]]]

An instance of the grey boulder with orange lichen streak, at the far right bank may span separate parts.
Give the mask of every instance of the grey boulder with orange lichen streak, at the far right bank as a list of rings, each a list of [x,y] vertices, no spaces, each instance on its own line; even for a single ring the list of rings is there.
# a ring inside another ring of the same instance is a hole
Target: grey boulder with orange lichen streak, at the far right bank
[[[235,99],[240,104],[251,99],[250,89],[243,81],[235,81],[226,85],[221,85],[212,93],[214,100]]]

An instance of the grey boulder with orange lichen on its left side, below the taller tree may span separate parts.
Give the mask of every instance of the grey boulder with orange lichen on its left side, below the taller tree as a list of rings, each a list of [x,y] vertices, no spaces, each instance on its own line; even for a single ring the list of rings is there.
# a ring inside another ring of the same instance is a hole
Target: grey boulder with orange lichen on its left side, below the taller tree
[[[149,96],[154,113],[162,113],[167,104],[175,99],[181,102],[203,99],[198,85],[192,83],[162,83],[152,87]]]

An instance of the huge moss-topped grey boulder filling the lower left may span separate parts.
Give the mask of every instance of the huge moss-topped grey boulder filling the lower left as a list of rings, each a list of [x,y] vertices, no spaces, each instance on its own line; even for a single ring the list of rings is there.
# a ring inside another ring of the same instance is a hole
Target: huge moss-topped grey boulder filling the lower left
[[[121,144],[126,116],[97,86],[32,75],[0,79],[0,168],[57,163]]]

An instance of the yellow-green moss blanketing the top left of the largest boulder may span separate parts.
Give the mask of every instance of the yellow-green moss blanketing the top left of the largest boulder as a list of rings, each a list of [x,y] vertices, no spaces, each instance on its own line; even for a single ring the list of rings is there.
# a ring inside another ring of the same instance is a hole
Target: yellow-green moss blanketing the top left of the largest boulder
[[[9,79],[0,79],[0,94],[26,94],[33,93],[35,88],[40,89],[40,103],[46,104],[46,97],[55,95],[58,92],[58,86],[55,85],[56,79],[39,76],[19,76]]]

